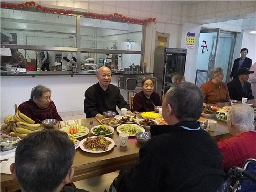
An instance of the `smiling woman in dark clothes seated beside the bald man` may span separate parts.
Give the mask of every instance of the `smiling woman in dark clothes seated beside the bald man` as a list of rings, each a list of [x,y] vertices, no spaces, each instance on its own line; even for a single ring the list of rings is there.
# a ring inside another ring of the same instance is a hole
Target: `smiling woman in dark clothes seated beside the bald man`
[[[142,91],[134,96],[132,112],[154,111],[154,105],[162,106],[160,96],[153,91],[154,80],[151,77],[144,77],[141,86]]]

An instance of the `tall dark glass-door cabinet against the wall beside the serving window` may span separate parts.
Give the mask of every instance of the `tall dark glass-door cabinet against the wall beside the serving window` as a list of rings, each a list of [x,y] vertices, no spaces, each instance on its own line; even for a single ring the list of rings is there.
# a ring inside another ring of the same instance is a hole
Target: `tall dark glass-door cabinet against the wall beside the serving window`
[[[156,47],[154,57],[154,77],[157,78],[156,92],[162,96],[172,86],[174,73],[184,74],[187,49]]]

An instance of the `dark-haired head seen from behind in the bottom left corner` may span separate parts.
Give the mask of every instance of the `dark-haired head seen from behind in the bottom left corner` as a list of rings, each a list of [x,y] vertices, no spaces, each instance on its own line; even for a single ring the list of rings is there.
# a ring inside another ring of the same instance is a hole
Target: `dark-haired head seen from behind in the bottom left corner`
[[[71,186],[74,143],[65,132],[46,129],[21,140],[10,170],[22,192],[84,192]]]

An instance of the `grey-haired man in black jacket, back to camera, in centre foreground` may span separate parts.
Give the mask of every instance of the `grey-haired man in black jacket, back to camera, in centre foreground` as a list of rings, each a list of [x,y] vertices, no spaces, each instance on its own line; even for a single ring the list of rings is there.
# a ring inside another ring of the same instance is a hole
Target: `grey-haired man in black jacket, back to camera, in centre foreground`
[[[141,146],[135,165],[120,171],[117,191],[217,191],[224,181],[223,157],[200,129],[202,108],[203,93],[195,84],[171,87],[162,106],[168,125],[151,126],[152,138]]]

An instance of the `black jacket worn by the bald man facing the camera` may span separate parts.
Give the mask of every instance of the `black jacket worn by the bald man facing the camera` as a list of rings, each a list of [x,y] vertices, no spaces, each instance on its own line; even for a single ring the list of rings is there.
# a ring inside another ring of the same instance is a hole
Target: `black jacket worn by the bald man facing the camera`
[[[105,111],[116,111],[116,106],[119,109],[129,108],[129,104],[124,100],[118,87],[110,84],[108,89],[104,91],[99,83],[89,87],[84,94],[84,113],[86,117],[95,117],[98,113],[103,115]]]

